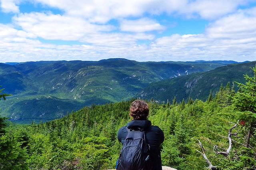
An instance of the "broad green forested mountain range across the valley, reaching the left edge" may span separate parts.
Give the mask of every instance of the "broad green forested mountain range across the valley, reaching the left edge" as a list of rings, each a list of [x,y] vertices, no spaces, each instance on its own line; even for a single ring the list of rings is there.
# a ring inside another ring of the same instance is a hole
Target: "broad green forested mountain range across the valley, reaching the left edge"
[[[13,120],[45,121],[83,106],[130,99],[152,82],[226,64],[126,59],[0,63],[0,85],[13,95],[0,103],[0,114]]]

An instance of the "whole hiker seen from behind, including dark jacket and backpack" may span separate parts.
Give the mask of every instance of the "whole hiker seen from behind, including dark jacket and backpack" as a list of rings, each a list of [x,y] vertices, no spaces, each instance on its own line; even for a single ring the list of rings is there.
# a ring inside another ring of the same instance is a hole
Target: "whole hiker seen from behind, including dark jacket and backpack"
[[[130,116],[133,120],[121,127],[117,135],[124,145],[116,167],[118,170],[162,170],[160,144],[164,141],[164,133],[151,125],[147,120],[148,113],[146,102],[132,102]]]

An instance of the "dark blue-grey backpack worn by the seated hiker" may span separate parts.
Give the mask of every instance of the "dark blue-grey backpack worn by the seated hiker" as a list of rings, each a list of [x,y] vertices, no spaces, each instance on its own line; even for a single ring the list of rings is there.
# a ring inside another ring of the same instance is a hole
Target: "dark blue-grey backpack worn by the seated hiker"
[[[120,152],[117,170],[151,170],[150,146],[147,145],[143,129],[127,129],[128,134]]]

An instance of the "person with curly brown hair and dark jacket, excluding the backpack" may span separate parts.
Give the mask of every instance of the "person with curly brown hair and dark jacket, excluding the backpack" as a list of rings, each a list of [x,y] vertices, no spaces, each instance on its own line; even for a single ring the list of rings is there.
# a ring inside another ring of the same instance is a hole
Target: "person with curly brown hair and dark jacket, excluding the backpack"
[[[149,113],[148,104],[143,100],[135,100],[130,107],[130,121],[127,126],[121,127],[118,131],[118,141],[124,145],[124,141],[128,134],[128,129],[144,129],[146,142],[150,145],[150,159],[152,161],[153,170],[162,170],[160,145],[164,141],[164,133],[158,126],[151,125],[147,119]]]

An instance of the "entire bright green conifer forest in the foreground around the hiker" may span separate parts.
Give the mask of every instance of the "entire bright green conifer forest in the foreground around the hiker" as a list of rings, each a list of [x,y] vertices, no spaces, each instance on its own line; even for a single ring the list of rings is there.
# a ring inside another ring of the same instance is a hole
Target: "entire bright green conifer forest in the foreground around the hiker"
[[[148,101],[148,119],[164,131],[164,166],[178,170],[256,169],[256,67],[251,69],[254,75],[244,75],[245,84],[223,84],[206,101]],[[237,92],[234,86],[238,86]],[[8,100],[4,90],[0,94]],[[0,117],[0,169],[114,168],[122,147],[116,134],[130,121],[133,100],[84,107],[39,124],[16,125]]]

